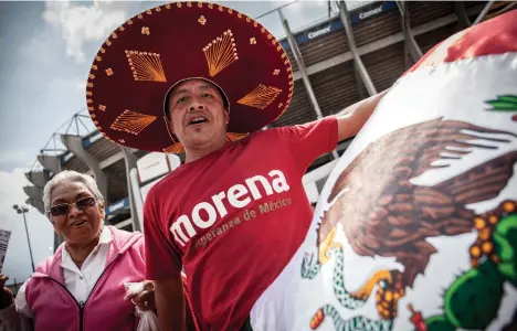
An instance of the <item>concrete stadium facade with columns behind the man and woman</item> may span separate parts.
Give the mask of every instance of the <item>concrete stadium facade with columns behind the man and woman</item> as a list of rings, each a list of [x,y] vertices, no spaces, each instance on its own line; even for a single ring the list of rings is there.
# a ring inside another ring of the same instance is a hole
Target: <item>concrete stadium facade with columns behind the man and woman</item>
[[[440,41],[513,7],[515,2],[504,1],[374,1],[350,10],[344,2],[336,2],[329,6],[329,18],[299,31],[291,30],[278,9],[275,12],[286,34],[281,42],[293,65],[295,86],[289,109],[271,127],[337,114],[389,88]],[[74,115],[64,132],[52,136],[54,148],[48,145],[41,150],[38,167],[25,173],[31,182],[24,188],[27,203],[44,213],[45,183],[55,173],[76,170],[96,179],[106,199],[108,224],[141,231],[141,204],[147,190],[173,170],[182,157],[123,148],[96,130],[81,134],[78,125],[91,121],[87,117]],[[75,132],[71,130],[74,126]],[[55,147],[56,139],[61,148]],[[317,201],[336,157],[350,141],[342,141],[333,153],[310,166],[304,184],[312,202]],[[61,242],[56,236],[54,246]]]

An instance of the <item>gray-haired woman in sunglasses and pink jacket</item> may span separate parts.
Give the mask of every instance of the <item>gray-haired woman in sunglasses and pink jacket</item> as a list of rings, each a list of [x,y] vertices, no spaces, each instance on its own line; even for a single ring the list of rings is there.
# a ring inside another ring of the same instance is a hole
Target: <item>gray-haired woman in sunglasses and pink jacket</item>
[[[65,242],[15,299],[0,275],[0,329],[136,330],[135,305],[155,308],[154,284],[144,278],[144,236],[104,225],[104,197],[95,180],[75,171],[57,173],[43,190],[43,203]],[[125,297],[125,284],[140,281],[144,290]]]

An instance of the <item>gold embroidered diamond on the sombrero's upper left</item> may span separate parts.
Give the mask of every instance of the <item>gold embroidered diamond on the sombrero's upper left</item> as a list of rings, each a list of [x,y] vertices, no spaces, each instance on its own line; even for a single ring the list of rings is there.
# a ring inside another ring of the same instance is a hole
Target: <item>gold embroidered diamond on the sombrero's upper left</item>
[[[126,51],[126,56],[135,81],[167,82],[160,54]]]

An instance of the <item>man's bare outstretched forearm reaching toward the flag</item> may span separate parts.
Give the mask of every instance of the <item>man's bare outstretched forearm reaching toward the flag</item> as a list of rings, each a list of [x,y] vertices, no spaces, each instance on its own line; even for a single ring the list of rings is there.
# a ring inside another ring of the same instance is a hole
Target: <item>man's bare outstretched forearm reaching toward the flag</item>
[[[359,132],[387,92],[388,89],[348,106],[336,115],[338,120],[338,141],[354,137]]]

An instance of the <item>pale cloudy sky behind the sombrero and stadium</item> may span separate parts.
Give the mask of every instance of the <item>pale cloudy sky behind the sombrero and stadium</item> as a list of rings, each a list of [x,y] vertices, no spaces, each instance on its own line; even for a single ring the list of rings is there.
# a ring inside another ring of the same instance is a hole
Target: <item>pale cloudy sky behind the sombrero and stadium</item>
[[[256,18],[292,1],[220,1]],[[31,274],[23,218],[23,186],[35,157],[64,122],[85,108],[91,62],[110,31],[163,1],[0,2],[0,228],[11,231],[2,273],[17,282]],[[354,3],[357,6],[358,2]],[[284,9],[293,31],[325,19],[327,2]],[[258,21],[284,36],[277,13]],[[27,214],[34,263],[52,254],[53,228],[35,209]]]

